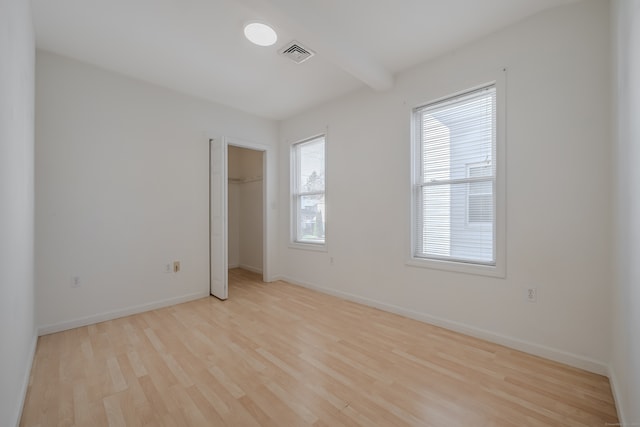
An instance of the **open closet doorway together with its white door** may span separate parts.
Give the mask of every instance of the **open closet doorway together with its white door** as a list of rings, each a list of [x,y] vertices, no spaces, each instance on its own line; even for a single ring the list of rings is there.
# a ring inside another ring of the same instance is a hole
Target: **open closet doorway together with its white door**
[[[209,277],[211,295],[228,298],[229,268],[268,282],[268,147],[227,137],[209,140]],[[271,201],[275,206],[275,202]]]

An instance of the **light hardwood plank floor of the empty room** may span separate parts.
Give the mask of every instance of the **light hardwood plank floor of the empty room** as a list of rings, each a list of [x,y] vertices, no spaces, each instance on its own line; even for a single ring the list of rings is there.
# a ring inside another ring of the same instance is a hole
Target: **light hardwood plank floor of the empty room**
[[[609,382],[257,275],[43,336],[21,426],[606,426]]]

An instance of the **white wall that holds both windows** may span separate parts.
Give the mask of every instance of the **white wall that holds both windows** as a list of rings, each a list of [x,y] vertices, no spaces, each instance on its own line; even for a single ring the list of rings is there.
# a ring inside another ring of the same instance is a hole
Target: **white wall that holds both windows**
[[[281,124],[289,144],[328,129],[328,252],[287,246],[285,278],[606,372],[610,348],[608,2],[558,8]],[[412,107],[507,76],[506,278],[405,264]],[[366,209],[365,209],[366,208]],[[331,264],[333,258],[334,263]],[[538,303],[524,301],[537,287]]]

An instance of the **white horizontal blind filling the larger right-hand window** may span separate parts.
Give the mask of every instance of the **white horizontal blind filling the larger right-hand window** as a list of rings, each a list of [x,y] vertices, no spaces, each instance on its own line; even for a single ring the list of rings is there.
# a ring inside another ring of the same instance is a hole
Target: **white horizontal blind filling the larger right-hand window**
[[[414,257],[496,264],[496,89],[414,110]]]

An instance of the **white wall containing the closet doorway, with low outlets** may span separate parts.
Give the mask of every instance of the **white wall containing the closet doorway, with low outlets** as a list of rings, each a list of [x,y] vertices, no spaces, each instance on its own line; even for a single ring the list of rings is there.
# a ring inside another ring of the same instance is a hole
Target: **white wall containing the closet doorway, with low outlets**
[[[40,331],[207,295],[208,140],[276,147],[277,124],[52,53],[36,68]]]

